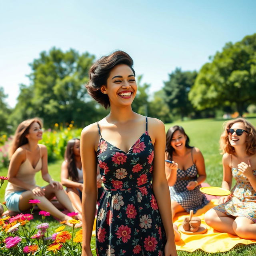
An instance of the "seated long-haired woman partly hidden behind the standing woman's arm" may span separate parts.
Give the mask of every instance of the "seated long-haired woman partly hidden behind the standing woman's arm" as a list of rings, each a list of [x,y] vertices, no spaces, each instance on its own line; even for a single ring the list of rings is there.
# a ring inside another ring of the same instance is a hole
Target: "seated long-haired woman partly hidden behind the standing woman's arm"
[[[68,196],[76,210],[82,213],[82,190],[84,187],[82,162],[80,155],[80,139],[73,138],[68,141],[65,151],[65,160],[61,165],[61,183],[67,187]],[[103,192],[100,173],[97,175],[98,200]]]

